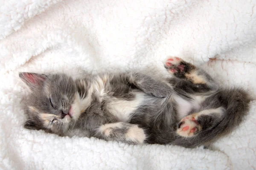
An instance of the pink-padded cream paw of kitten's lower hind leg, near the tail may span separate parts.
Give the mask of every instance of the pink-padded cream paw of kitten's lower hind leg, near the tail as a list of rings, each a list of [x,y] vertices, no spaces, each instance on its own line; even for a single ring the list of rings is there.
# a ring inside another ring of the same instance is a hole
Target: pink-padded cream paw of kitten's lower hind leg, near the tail
[[[184,137],[192,137],[201,130],[202,127],[194,114],[184,117],[177,125],[177,133]]]

